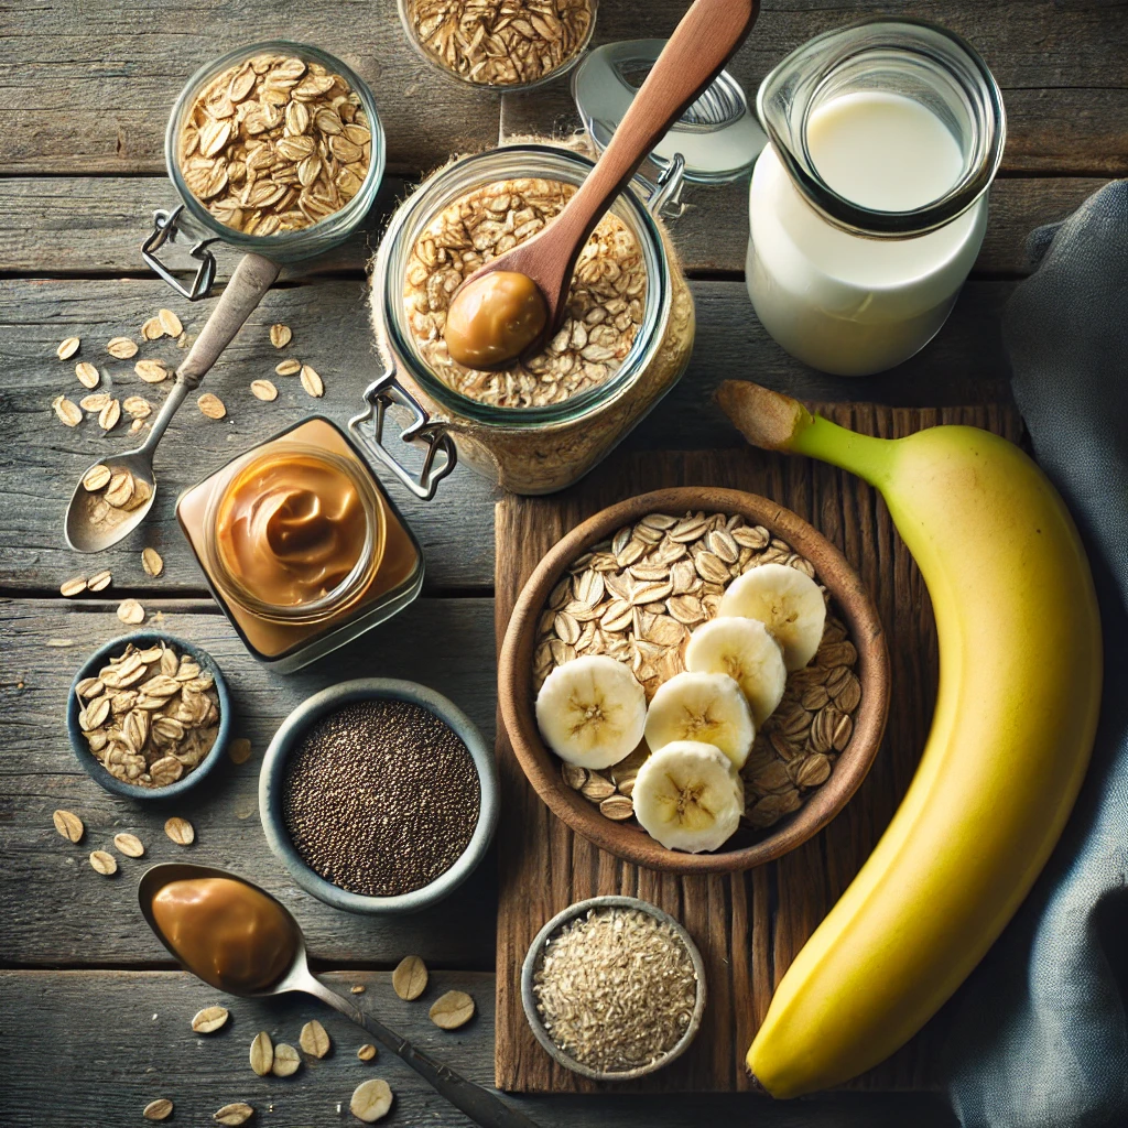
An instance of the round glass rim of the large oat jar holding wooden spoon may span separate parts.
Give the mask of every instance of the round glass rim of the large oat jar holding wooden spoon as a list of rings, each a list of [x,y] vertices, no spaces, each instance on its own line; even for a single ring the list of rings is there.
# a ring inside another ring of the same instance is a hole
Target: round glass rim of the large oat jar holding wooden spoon
[[[520,169],[511,173],[509,179],[525,177],[558,179],[571,173],[575,178],[565,179],[565,183],[574,184],[581,184],[594,166],[594,161],[582,153],[559,146],[530,142],[501,146],[486,152],[459,157],[433,173],[396,211],[380,244],[372,277],[373,287],[379,285],[381,290],[379,301],[373,302],[379,315],[378,329],[388,338],[395,356],[408,363],[411,378],[438,404],[461,416],[515,430],[573,422],[588,412],[602,407],[629,388],[638,370],[650,362],[653,353],[660,347],[669,320],[672,291],[669,252],[658,220],[641,197],[642,188],[652,186],[641,177],[636,176],[635,180],[619,193],[611,210],[619,209],[615,211],[619,219],[624,218],[620,212],[626,212],[632,221],[629,224],[632,233],[638,239],[642,248],[646,265],[643,323],[623,363],[601,384],[559,403],[539,407],[500,407],[485,404],[456,391],[439,379],[418,355],[414,337],[404,326],[406,315],[402,275],[420,231],[452,200],[492,180],[506,178],[503,171],[494,171],[491,168],[493,164],[503,160],[512,160]],[[538,160],[544,164],[556,161],[562,167],[543,170],[534,167]],[[482,175],[475,175],[468,178],[469,183],[464,183],[464,178],[458,174],[468,171]],[[394,265],[398,265],[398,273],[393,268]],[[397,279],[399,284],[394,284]]]

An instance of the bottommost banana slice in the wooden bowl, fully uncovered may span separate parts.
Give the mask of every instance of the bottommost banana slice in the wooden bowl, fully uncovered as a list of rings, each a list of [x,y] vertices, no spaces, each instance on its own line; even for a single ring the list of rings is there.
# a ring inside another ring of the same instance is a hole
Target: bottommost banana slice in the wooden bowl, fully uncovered
[[[744,784],[716,746],[676,740],[638,769],[632,799],[652,838],[667,849],[699,854],[732,837],[744,810]]]

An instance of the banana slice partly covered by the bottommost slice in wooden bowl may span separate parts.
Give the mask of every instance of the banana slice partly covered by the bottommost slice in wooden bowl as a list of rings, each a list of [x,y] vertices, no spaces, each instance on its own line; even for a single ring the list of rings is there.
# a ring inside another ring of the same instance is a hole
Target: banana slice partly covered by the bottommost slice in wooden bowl
[[[740,768],[755,735],[748,702],[726,673],[677,673],[658,687],[646,713],[651,751],[673,740],[703,741]]]

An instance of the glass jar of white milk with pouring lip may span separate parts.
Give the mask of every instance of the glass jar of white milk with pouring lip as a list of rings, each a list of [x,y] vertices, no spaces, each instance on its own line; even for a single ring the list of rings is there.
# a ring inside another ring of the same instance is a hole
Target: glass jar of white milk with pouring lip
[[[770,144],[749,195],[748,292],[796,359],[892,368],[944,324],[987,226],[1006,134],[986,64],[951,32],[873,19],[764,80]]]

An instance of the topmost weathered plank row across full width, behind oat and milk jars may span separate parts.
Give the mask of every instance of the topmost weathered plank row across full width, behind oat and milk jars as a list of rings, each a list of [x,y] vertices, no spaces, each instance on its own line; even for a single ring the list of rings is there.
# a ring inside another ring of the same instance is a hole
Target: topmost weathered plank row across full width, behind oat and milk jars
[[[605,2],[596,42],[668,35],[685,8],[684,0],[652,0],[642,26],[634,5]],[[765,5],[733,73],[752,92],[812,35],[887,10],[881,0]],[[1010,112],[1007,167],[1091,175],[1128,168],[1122,0],[919,0],[898,12],[945,24],[982,52]],[[416,171],[496,140],[497,98],[433,74],[407,45],[393,0],[344,0],[333,8],[245,0],[220,21],[210,5],[187,5],[173,21],[157,0],[129,8],[97,0],[16,7],[8,23],[0,43],[10,125],[0,138],[0,167],[8,171],[160,171],[168,111],[191,72],[221,51],[279,30],[340,54],[370,82],[395,170]],[[552,98],[566,99],[567,87],[559,82],[520,97],[534,107],[532,127],[543,129],[552,120]]]

